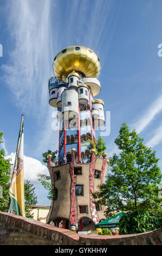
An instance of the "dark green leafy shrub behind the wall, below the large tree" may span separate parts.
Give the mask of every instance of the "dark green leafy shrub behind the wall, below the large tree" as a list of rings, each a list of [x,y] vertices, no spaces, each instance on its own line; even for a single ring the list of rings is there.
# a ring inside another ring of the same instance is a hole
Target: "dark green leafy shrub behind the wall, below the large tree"
[[[120,219],[120,235],[136,234],[160,228],[162,218],[145,210],[126,212]]]

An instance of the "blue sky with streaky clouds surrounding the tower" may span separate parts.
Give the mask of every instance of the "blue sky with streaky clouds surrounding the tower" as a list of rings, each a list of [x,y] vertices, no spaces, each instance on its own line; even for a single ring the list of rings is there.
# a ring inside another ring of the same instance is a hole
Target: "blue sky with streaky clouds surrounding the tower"
[[[111,114],[110,135],[104,137],[108,156],[117,152],[114,139],[126,121],[161,159],[161,9],[161,0],[0,1],[3,147],[6,156],[15,153],[24,114],[28,166],[24,172],[36,186],[39,204],[50,202],[33,174],[37,170],[47,174],[42,153],[58,149],[58,132],[52,130],[54,109],[48,104],[48,78],[53,76],[53,58],[67,46],[89,47],[100,59],[97,98]]]

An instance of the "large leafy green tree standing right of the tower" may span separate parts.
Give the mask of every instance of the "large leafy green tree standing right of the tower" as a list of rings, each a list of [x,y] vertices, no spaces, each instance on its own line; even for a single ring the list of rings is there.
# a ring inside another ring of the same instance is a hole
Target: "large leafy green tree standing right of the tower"
[[[105,184],[93,193],[95,203],[106,205],[106,215],[116,212],[160,208],[158,185],[161,173],[155,151],[147,148],[135,130],[130,131],[123,123],[115,144],[119,155],[114,154],[109,162],[109,173]]]

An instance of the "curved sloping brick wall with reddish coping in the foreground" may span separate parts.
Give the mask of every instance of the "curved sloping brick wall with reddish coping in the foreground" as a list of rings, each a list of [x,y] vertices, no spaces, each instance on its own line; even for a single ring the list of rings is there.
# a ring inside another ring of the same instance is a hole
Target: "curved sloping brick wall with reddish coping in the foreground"
[[[134,235],[80,236],[71,230],[0,212],[0,245],[162,245],[162,228]]]

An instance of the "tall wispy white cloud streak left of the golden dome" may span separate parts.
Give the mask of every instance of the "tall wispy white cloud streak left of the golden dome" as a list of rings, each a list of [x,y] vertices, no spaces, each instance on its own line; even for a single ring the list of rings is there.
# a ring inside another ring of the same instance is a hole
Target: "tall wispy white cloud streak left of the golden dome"
[[[51,1],[11,1],[9,32],[15,42],[4,80],[23,111],[42,113],[47,106],[48,78],[52,74]],[[37,107],[36,107],[37,106]]]

